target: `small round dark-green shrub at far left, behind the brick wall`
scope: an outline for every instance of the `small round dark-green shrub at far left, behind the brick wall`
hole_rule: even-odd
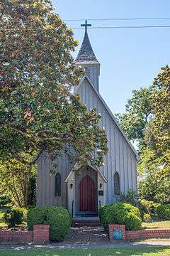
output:
[[[8,209],[3,218],[9,228],[15,227],[23,222],[23,210],[21,208]]]

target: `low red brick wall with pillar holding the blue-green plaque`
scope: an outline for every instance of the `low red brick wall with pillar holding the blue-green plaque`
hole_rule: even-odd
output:
[[[113,231],[122,230],[123,240],[170,238],[170,229],[125,230],[125,225],[110,224],[109,240],[113,242]]]

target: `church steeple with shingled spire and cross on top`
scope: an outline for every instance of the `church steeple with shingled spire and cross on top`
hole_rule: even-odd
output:
[[[89,76],[91,81],[94,83],[96,89],[98,90],[98,76],[100,75],[100,63],[98,62],[94,50],[91,47],[89,41],[89,36],[87,33],[87,26],[91,24],[81,24],[85,27],[84,40],[75,60],[76,65],[81,65],[82,68],[85,68],[86,75]]]

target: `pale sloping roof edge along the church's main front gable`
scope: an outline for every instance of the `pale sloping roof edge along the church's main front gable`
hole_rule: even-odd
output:
[[[93,82],[91,81],[91,79],[89,78],[88,75],[84,75],[83,78],[81,78],[81,81],[79,82],[79,86],[77,87],[77,89],[74,91],[74,94],[79,93],[79,90],[81,89],[82,85],[83,85],[83,81],[84,79],[88,80],[89,84],[91,85],[91,87],[93,88],[93,90],[96,92],[96,95],[98,96],[98,98],[101,100],[101,102],[103,103],[104,107],[106,108],[108,114],[110,114],[111,118],[113,119],[113,122],[115,123],[116,127],[118,127],[119,131],[121,132],[121,134],[123,134],[123,137],[125,138],[126,142],[128,142],[130,148],[132,149],[132,151],[134,152],[137,161],[140,160],[140,157],[137,154],[137,151],[135,150],[135,148],[132,146],[130,140],[128,139],[128,137],[125,135],[125,132],[123,132],[123,129],[120,127],[120,124],[118,123],[118,121],[116,120],[116,118],[114,117],[113,113],[111,112],[111,110],[109,109],[108,105],[106,104],[106,102],[103,100],[103,97],[101,97],[100,93],[98,92],[98,90],[96,90],[96,87],[94,86]]]

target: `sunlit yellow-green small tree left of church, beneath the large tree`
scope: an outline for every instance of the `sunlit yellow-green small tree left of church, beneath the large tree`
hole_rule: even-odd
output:
[[[35,203],[35,187],[30,188],[35,181],[36,168],[22,164],[16,159],[0,161],[0,192],[6,193],[20,207]]]

